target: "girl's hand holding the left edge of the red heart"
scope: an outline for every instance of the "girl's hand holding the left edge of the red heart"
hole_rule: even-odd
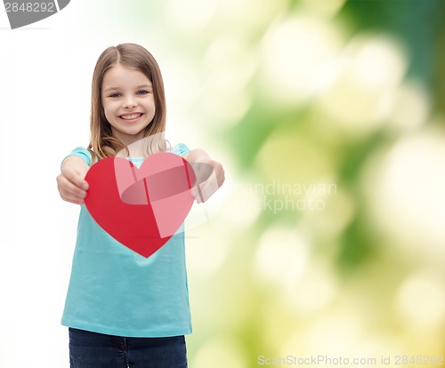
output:
[[[57,177],[57,188],[61,198],[72,204],[84,204],[88,183],[86,172],[90,167],[82,158],[67,157],[61,165],[61,174]]]

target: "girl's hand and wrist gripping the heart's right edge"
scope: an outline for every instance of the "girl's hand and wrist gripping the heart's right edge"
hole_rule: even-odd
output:
[[[195,196],[198,204],[214,194],[223,185],[224,169],[223,165],[212,160],[202,149],[193,149],[183,156],[193,167],[196,176],[196,186],[191,189],[191,194]]]

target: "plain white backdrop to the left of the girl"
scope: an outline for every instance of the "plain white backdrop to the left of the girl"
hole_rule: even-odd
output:
[[[61,200],[55,178],[61,159],[88,142],[101,51],[123,42],[149,48],[150,36],[129,36],[117,21],[131,3],[72,0],[14,30],[0,4],[0,367],[69,366],[60,319],[79,207]],[[150,43],[155,57],[162,54],[157,39]]]

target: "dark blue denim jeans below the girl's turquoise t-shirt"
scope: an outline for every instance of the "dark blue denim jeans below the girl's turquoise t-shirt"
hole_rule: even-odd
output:
[[[69,328],[69,366],[186,368],[185,338],[127,338]]]

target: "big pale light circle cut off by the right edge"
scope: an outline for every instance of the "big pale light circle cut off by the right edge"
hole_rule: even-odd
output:
[[[405,252],[445,257],[445,134],[431,130],[399,140],[364,178],[377,223]]]

